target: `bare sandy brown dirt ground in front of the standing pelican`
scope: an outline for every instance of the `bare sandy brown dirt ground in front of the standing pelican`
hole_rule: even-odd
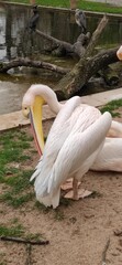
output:
[[[44,126],[47,134],[51,123]],[[16,218],[26,231],[49,241],[32,246],[29,259],[23,244],[0,242],[0,265],[122,265],[122,173],[89,171],[81,187],[93,195],[57,210],[35,209],[35,198],[20,209],[0,203],[2,223]]]

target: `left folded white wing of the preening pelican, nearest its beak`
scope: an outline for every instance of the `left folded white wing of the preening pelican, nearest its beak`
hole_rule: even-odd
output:
[[[57,114],[45,144],[43,159],[41,159],[41,162],[38,162],[36,171],[32,176],[31,180],[36,178],[38,174],[41,176],[41,172],[43,176],[47,176],[51,171],[58,151],[60,150],[65,139],[74,126],[73,120],[70,120],[70,114],[74,113],[76,107],[79,105],[80,98],[78,96],[73,97]]]

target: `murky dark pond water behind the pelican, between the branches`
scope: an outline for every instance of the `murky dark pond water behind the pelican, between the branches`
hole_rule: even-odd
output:
[[[80,33],[75,22],[74,11],[48,9],[40,7],[37,29],[60,40],[74,43]],[[27,30],[32,9],[27,6],[15,6],[0,2],[0,61],[8,62],[16,56],[42,59],[51,62],[47,55],[41,55],[44,49],[49,50],[47,41]],[[100,15],[87,13],[88,31],[91,33],[97,26]],[[122,40],[122,18],[111,17],[100,44],[117,45]],[[73,60],[53,59],[53,63],[74,65]],[[18,67],[7,75],[0,75],[0,114],[21,109],[23,94],[31,84],[44,83],[54,87],[60,76],[45,71],[25,70]]]

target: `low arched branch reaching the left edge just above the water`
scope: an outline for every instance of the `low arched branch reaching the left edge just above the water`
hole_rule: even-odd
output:
[[[62,75],[69,72],[68,68],[64,68],[55,64],[46,63],[43,61],[32,61],[30,59],[19,57],[16,60],[10,61],[9,63],[0,63],[0,73],[7,73],[10,68],[18,67],[18,66],[45,68]]]

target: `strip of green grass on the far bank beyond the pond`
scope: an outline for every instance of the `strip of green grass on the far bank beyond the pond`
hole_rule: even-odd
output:
[[[9,2],[18,2],[18,3],[27,3],[29,0],[9,0]],[[54,7],[54,8],[67,8],[69,9],[69,1],[65,0],[36,0],[36,4],[46,6],[46,7]],[[107,13],[122,13],[121,7],[113,7],[109,3],[101,3],[101,2],[92,2],[92,1],[85,1],[79,0],[77,8],[86,10],[86,11],[97,11],[97,12],[107,12]]]

